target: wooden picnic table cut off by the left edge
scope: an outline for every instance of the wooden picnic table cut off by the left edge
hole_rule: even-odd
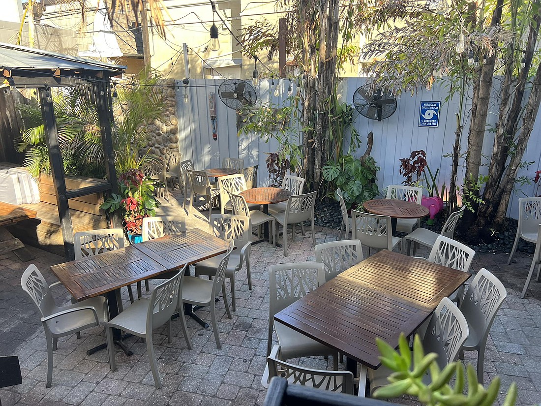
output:
[[[15,238],[5,229],[5,226],[15,224],[21,220],[33,219],[36,215],[35,210],[0,201],[0,255],[12,251],[23,262],[34,259],[34,256],[24,247],[21,240]]]

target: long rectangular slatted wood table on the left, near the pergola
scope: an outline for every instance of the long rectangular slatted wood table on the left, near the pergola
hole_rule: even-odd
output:
[[[194,264],[227,251],[228,243],[197,228],[180,234],[166,235],[154,240],[129,245],[94,257],[87,257],[64,264],[51,266],[68,291],[77,300],[84,300],[100,294],[107,294],[109,316],[118,315],[115,290],[143,279],[174,276],[186,264]],[[192,310],[185,306],[184,313],[193,317],[203,326],[207,325]],[[115,344],[126,355],[131,351],[124,346],[120,330],[114,330]],[[105,348],[105,344],[88,350],[90,355]]]

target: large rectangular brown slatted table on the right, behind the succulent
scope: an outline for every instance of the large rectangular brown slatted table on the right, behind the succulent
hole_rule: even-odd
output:
[[[397,348],[470,276],[422,259],[382,250],[340,273],[274,316],[275,320],[347,356],[357,373],[381,365],[377,337]],[[364,379],[364,381],[363,381]]]

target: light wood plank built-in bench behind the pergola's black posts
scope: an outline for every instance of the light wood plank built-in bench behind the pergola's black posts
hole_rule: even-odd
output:
[[[68,191],[106,182],[103,179],[85,178],[84,176],[66,176],[65,179]],[[43,248],[63,257],[65,255],[64,238],[56,206],[55,187],[50,175],[42,174],[39,177],[39,194],[41,202],[19,206],[36,211],[36,218],[19,221],[10,227],[10,231],[25,244]],[[107,228],[105,212],[100,209],[103,200],[103,193],[69,199],[74,233]]]

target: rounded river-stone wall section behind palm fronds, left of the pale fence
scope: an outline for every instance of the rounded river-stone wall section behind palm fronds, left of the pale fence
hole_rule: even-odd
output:
[[[166,94],[168,117],[149,123],[147,126],[147,131],[150,133],[148,146],[151,153],[167,160],[171,153],[179,152],[179,119],[176,112],[175,80],[164,79],[163,87],[156,88],[156,90]]]

